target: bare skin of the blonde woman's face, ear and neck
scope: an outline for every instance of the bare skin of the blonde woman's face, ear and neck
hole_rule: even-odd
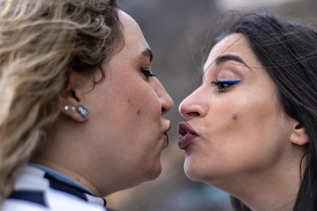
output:
[[[138,24],[120,12],[125,44],[102,66],[105,80],[73,72],[63,90],[63,106],[83,105],[87,118],[66,111],[48,146],[33,162],[80,182],[97,196],[157,178],[171,122],[163,117],[173,101],[155,77],[147,78],[151,52]],[[100,77],[96,71],[95,77]]]

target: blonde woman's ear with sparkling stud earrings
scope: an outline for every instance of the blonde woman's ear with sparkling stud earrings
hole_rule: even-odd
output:
[[[67,85],[61,93],[62,113],[78,122],[84,122],[89,119],[89,112],[84,108],[84,92],[87,82],[85,75],[72,71],[69,74]]]

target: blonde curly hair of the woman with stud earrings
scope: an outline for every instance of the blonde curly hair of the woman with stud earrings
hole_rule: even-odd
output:
[[[123,40],[118,9],[116,0],[0,0],[0,204],[60,115],[70,71],[102,71]]]

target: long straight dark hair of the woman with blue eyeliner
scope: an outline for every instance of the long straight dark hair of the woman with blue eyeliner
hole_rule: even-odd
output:
[[[278,89],[285,113],[309,138],[294,211],[317,210],[317,32],[268,14],[248,14],[223,35],[242,33]],[[237,210],[250,210],[236,198]]]

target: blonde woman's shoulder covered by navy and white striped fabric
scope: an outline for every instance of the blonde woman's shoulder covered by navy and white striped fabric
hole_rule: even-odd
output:
[[[89,203],[82,198],[50,187],[44,178],[45,172],[33,167],[26,167],[15,183],[13,194],[7,198],[0,211],[105,211],[100,204]]]

